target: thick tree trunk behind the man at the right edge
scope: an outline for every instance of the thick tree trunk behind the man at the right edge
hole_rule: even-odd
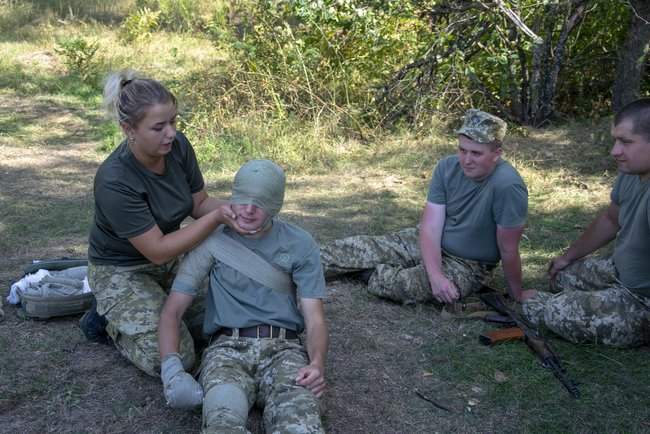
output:
[[[640,96],[645,58],[650,44],[650,2],[629,0],[632,7],[625,42],[619,48],[612,107],[618,111]]]

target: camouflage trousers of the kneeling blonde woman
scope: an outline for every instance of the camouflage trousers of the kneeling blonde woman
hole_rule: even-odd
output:
[[[178,261],[165,265],[127,267],[88,264],[88,283],[97,300],[97,313],[108,321],[106,331],[124,357],[147,374],[160,375],[158,321],[176,275]],[[183,366],[195,364],[194,340],[188,329],[199,330],[205,297],[197,297],[181,324]]]

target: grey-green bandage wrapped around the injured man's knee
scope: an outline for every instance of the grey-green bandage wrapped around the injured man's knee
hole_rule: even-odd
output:
[[[204,424],[222,424],[224,420],[236,426],[245,426],[248,420],[246,392],[235,384],[218,384],[203,398]]]

